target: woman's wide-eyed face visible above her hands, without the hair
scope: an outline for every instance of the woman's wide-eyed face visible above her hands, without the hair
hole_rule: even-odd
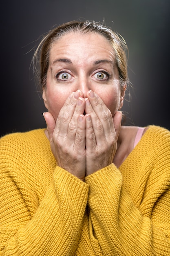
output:
[[[78,89],[84,98],[89,90],[96,92],[112,115],[123,105],[115,53],[100,34],[70,32],[51,47],[43,99],[55,120],[69,94]]]

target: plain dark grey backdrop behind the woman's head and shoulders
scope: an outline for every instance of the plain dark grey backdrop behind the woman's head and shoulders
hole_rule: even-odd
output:
[[[133,85],[123,107],[128,124],[170,129],[169,0],[6,0],[0,12],[0,136],[45,127],[30,68],[32,49],[55,24],[78,18],[105,20],[126,40]]]

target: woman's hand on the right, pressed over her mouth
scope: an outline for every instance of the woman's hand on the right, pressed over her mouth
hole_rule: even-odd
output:
[[[86,99],[86,176],[113,163],[121,128],[121,112],[114,117],[92,91]]]

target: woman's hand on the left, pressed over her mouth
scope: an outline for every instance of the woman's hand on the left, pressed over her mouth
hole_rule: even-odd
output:
[[[66,100],[57,121],[44,113],[52,153],[58,165],[80,180],[86,174],[86,120],[83,115],[85,100],[77,90]]]

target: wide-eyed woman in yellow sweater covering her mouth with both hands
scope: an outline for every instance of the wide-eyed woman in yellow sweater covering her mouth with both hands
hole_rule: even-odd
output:
[[[2,255],[170,255],[170,132],[121,127],[125,48],[88,21],[40,43],[47,129],[1,139]]]

